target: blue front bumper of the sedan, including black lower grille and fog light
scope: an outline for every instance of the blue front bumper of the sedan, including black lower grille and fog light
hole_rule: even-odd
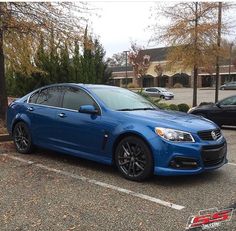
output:
[[[213,142],[171,143],[161,141],[154,159],[155,175],[193,175],[211,171],[226,164],[227,143],[224,137]],[[160,146],[159,146],[160,147]]]

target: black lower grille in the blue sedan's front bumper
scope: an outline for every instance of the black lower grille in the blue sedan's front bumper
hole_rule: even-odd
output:
[[[227,152],[226,143],[220,145],[208,145],[202,148],[202,160],[204,166],[210,167],[223,162]]]

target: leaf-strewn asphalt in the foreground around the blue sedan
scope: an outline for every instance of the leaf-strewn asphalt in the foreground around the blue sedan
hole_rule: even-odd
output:
[[[0,146],[1,230],[185,230],[199,210],[236,208],[236,129],[229,164],[197,176],[123,179],[114,167],[59,153]],[[233,231],[231,221],[218,229]]]

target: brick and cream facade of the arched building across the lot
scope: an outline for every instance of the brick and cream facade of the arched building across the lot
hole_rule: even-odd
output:
[[[143,87],[160,86],[173,87],[176,83],[182,84],[184,87],[192,87],[193,73],[192,70],[170,70],[167,69],[166,55],[170,47],[154,48],[142,50],[143,55],[150,56],[150,66],[146,75],[143,77]],[[160,66],[162,73],[157,74],[156,66]],[[112,78],[110,84],[116,86],[126,86],[126,84],[134,83],[134,72],[132,66],[110,67],[112,70]],[[127,77],[126,77],[127,75]],[[215,84],[215,71],[208,73],[199,68],[198,87],[212,87]],[[236,81],[236,67],[229,66],[229,60],[222,61],[220,65],[220,84],[225,82]]]

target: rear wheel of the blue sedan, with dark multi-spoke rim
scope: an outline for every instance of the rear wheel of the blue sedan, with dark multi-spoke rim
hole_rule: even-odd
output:
[[[24,122],[18,122],[13,129],[13,140],[16,150],[22,154],[30,154],[33,143],[28,126]]]

